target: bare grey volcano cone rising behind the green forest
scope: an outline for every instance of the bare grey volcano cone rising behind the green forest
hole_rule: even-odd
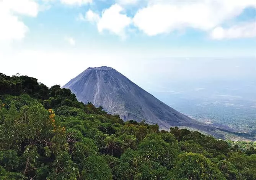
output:
[[[111,67],[89,67],[64,88],[69,88],[78,101],[103,106],[105,111],[119,114],[124,121],[145,119],[149,124],[158,124],[161,129],[187,126],[214,135],[213,127],[181,114]]]

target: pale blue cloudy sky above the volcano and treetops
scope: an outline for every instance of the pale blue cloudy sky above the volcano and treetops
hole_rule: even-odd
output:
[[[144,85],[254,75],[256,1],[0,0],[0,72],[50,87],[98,66]]]

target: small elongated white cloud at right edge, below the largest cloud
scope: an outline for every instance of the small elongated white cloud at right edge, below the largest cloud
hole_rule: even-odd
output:
[[[256,37],[256,22],[247,22],[224,29],[216,27],[211,32],[212,39],[236,39]]]

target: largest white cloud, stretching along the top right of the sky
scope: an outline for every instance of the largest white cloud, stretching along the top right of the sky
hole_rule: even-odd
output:
[[[134,25],[147,35],[172,32],[192,27],[209,31],[232,19],[255,0],[149,0],[133,18]],[[218,30],[219,31],[219,30]]]

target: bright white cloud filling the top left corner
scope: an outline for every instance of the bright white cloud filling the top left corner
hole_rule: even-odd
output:
[[[23,39],[28,27],[20,15],[35,17],[39,11],[35,0],[3,0],[0,2],[0,41]]]

